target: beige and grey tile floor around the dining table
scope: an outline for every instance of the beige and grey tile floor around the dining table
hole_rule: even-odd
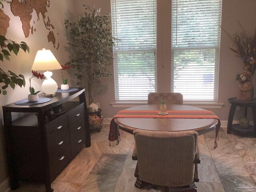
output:
[[[91,135],[92,146],[84,148],[54,180],[54,192],[163,192],[150,186],[139,190],[134,186],[136,162],[132,161],[134,138],[120,131],[121,142],[110,147],[109,125]],[[245,162],[256,161],[256,138],[226,134],[220,129],[218,148],[213,149],[215,132],[199,136],[201,163],[198,166],[198,192],[256,192],[256,183],[246,170]],[[241,182],[252,188],[241,188]],[[254,187],[253,187],[254,186]],[[43,184],[21,183],[15,192],[42,192]]]

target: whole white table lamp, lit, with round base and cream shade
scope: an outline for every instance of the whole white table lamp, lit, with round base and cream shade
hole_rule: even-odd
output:
[[[51,76],[52,72],[49,70],[57,70],[62,69],[59,62],[56,60],[54,55],[50,50],[38,50],[36,54],[36,58],[34,60],[32,70],[33,71],[46,71],[44,72],[44,76],[46,79],[42,83],[42,91],[45,93],[45,96],[55,96],[56,91],[58,89],[58,85],[56,81],[54,81]]]

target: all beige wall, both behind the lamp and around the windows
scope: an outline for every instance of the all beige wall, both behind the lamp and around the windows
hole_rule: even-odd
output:
[[[71,3],[72,2],[72,3]],[[25,38],[21,30],[21,23],[18,17],[12,16],[8,4],[4,7],[4,12],[10,16],[10,27],[6,34],[7,38],[11,38],[17,42],[25,41],[30,46],[30,54],[20,52],[18,56],[12,56],[11,61],[0,63],[0,67],[4,70],[13,70],[17,74],[24,74],[26,80],[31,76],[31,67],[34,61],[37,50],[46,47],[46,49],[52,50],[53,54],[59,60],[60,64],[64,64],[71,57],[72,51],[66,45],[67,40],[70,40],[68,32],[65,30],[64,19],[77,18],[82,16],[84,10],[82,4],[87,4],[90,7],[101,8],[102,14],[111,12],[110,0],[52,0],[50,1],[50,8],[47,15],[50,16],[51,23],[55,27],[56,41],[60,42],[60,48],[54,49],[51,43],[48,43],[47,34],[48,31],[44,28],[44,23],[41,20],[36,22],[36,32]],[[226,29],[230,34],[240,31],[237,21],[240,21],[246,31],[253,32],[256,28],[254,18],[256,18],[256,1],[255,0],[223,0],[222,6],[222,27]],[[158,11],[162,9],[162,15],[158,14],[158,77],[164,77],[158,80],[158,91],[170,91],[170,32],[163,30],[163,37],[161,36],[161,29],[170,28],[170,0],[158,0]],[[41,16],[42,17],[42,16]],[[33,18],[36,18],[33,13]],[[162,26],[161,26],[162,24]],[[58,33],[58,35],[57,35]],[[163,39],[163,42],[162,42]],[[238,83],[234,81],[236,72],[242,71],[242,61],[235,56],[233,52],[228,49],[228,46],[232,41],[228,38],[227,34],[222,31],[221,35],[221,47],[220,47],[220,77],[219,77],[219,94],[218,103],[224,103],[222,109],[209,109],[214,111],[221,120],[228,119],[228,111],[230,104],[227,102],[227,98],[235,97],[238,89]],[[164,68],[162,68],[164,64]],[[109,66],[110,71],[113,72],[113,65]],[[60,70],[53,71],[54,79],[61,84]],[[70,73],[72,74],[72,72]],[[66,74],[68,77],[68,74]],[[70,77],[74,77],[70,75]],[[76,85],[75,78],[69,78],[71,86]],[[40,80],[34,80],[33,86],[40,90],[42,82]],[[254,84],[256,85],[256,77],[254,76]],[[86,84],[81,84],[85,86]],[[8,89],[8,95],[0,95],[0,119],[2,120],[2,106],[15,102],[17,100],[27,97],[28,86],[26,88],[16,88],[15,90]],[[255,93],[256,95],[256,93]],[[102,114],[107,117],[113,117],[116,112],[124,108],[113,108],[110,103],[115,102],[114,96],[114,78],[103,79],[97,81],[94,84],[94,102],[100,102],[102,108]],[[249,112],[250,113],[250,112]],[[235,118],[241,117],[242,110],[237,113]],[[1,121],[2,122],[2,121]],[[0,184],[7,177],[6,155],[4,146],[4,133],[3,122],[0,124]]]

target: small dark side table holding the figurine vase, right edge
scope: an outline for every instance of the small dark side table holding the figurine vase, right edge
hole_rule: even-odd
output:
[[[228,114],[228,127],[227,134],[231,134],[232,131],[242,135],[251,135],[256,137],[256,99],[254,98],[250,102],[241,102],[236,100],[236,97],[228,98],[228,102],[231,104]],[[234,114],[236,112],[236,106],[244,107],[244,116],[247,116],[247,108],[252,108],[253,126],[249,125],[249,128],[242,129],[239,124],[233,124]]]

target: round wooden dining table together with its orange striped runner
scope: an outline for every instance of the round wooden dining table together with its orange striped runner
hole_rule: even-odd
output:
[[[168,132],[196,131],[198,132],[198,135],[201,135],[214,130],[214,127],[216,127],[216,140],[214,144],[214,148],[216,148],[218,131],[220,129],[220,120],[214,113],[202,108],[188,105],[167,104],[166,108],[166,112],[169,112],[171,115],[168,114],[165,116],[158,114],[158,112],[160,112],[159,104],[140,105],[118,112],[110,123],[109,140],[111,141],[111,134],[113,136],[114,131],[118,131],[118,128],[130,134],[133,134],[133,131],[136,129],[142,129]],[[126,115],[122,116],[122,112]],[[213,116],[196,115],[207,112],[209,112],[209,114],[213,114]],[[130,113],[133,115],[130,115]],[[154,115],[148,116],[147,114],[149,113]],[[118,144],[118,142],[116,144]]]

